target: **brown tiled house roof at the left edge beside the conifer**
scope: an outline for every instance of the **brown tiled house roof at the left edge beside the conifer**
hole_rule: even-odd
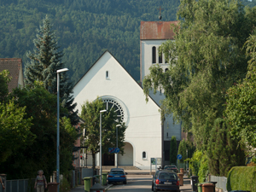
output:
[[[20,58],[0,59],[0,72],[7,69],[12,77],[8,84],[9,92],[18,87],[20,68],[22,68],[22,60]]]

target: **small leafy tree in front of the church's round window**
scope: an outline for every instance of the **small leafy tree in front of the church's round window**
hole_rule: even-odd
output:
[[[105,107],[102,99],[96,99],[94,102],[85,102],[82,106],[80,118],[84,119],[84,124],[81,128],[86,129],[86,139],[84,146],[88,147],[92,154],[92,167],[95,168],[95,154],[100,151],[100,111]],[[116,125],[117,114],[114,109],[110,109],[102,113],[102,154],[108,153],[108,148],[116,146]],[[120,124],[118,127],[118,144],[120,153],[124,154],[125,140],[125,124]]]

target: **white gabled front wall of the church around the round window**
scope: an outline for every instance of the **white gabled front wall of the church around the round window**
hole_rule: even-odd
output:
[[[106,71],[109,74],[108,79],[106,79]],[[128,123],[125,142],[133,146],[133,166],[148,169],[151,157],[161,157],[159,107],[151,99],[148,103],[145,102],[143,89],[108,51],[75,85],[73,93],[79,113],[81,105],[86,100],[92,102],[97,96],[113,96],[123,103],[122,107],[127,113],[125,121]],[[143,151],[147,152],[148,160],[143,160]],[[119,160],[120,164],[125,164],[125,160],[122,158]],[[96,163],[98,164],[98,161]]]

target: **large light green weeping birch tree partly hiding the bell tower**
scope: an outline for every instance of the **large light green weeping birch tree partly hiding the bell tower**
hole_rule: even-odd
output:
[[[160,47],[169,70],[150,68],[143,79],[146,95],[165,90],[162,108],[192,130],[197,148],[207,122],[222,118],[226,91],[247,73],[243,44],[256,24],[255,9],[244,9],[236,0],[183,0],[177,11],[175,40]]]

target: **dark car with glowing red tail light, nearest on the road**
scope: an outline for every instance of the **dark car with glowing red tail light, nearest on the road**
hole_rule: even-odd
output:
[[[159,170],[155,172],[152,178],[152,190],[154,192],[160,190],[180,192],[178,180],[176,172],[172,172],[170,170]]]

